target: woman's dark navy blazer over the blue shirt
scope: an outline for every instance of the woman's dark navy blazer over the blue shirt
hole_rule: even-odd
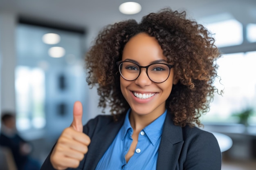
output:
[[[76,170],[95,170],[119,129],[124,115],[114,121],[112,116],[100,115],[83,126],[91,138],[84,159]],[[175,126],[170,113],[166,115],[159,146],[157,170],[220,170],[221,152],[213,134],[196,127]],[[55,170],[46,158],[41,170]],[[72,170],[69,168],[68,170]]]

